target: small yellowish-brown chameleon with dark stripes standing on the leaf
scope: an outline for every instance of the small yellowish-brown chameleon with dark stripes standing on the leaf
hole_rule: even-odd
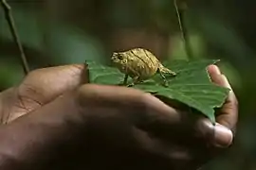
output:
[[[176,76],[176,73],[164,67],[153,53],[143,48],[114,52],[111,60],[119,71],[125,74],[123,80],[124,85],[127,84],[128,76],[133,78],[133,83],[129,86],[146,80],[156,73],[160,74],[165,83],[167,81],[163,74]]]

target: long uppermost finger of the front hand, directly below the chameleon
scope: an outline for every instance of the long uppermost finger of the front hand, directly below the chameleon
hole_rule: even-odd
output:
[[[180,123],[182,119],[178,110],[167,106],[150,93],[132,88],[86,84],[80,88],[79,94],[80,101],[86,101],[82,105],[101,104],[106,107],[126,108],[131,110],[131,114],[135,110],[136,113],[140,111],[140,114],[133,115],[138,124],[148,122],[171,125]]]

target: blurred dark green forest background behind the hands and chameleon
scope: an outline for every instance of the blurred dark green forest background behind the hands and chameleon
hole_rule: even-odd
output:
[[[221,59],[240,104],[235,144],[203,169],[256,169],[256,1],[187,0],[193,58]],[[151,49],[160,59],[188,59],[173,0],[9,0],[31,69],[109,62],[113,51]],[[19,52],[0,8],[0,89],[23,78]],[[254,134],[254,135],[253,135]]]

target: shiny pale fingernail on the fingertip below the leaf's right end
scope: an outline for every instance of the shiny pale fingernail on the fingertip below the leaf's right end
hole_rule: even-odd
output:
[[[232,144],[233,134],[229,128],[216,123],[214,131],[214,145],[218,147],[228,147]]]

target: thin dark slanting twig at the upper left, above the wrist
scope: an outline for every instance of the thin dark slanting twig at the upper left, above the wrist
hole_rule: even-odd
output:
[[[6,0],[1,0],[1,5],[4,8],[4,11],[5,11],[5,17],[6,17],[6,20],[7,20],[8,24],[9,24],[9,30],[10,30],[10,33],[12,35],[12,38],[13,38],[14,42],[16,43],[16,45],[18,46],[18,49],[20,51],[20,57],[21,57],[20,59],[21,59],[21,62],[22,62],[24,73],[25,73],[25,75],[27,75],[27,73],[29,72],[29,67],[28,67],[28,64],[27,64],[27,58],[26,58],[22,43],[19,39],[17,30],[16,30],[16,26],[14,24],[14,20],[13,20],[12,14],[11,14],[11,8],[10,8],[10,6],[7,3]]]

